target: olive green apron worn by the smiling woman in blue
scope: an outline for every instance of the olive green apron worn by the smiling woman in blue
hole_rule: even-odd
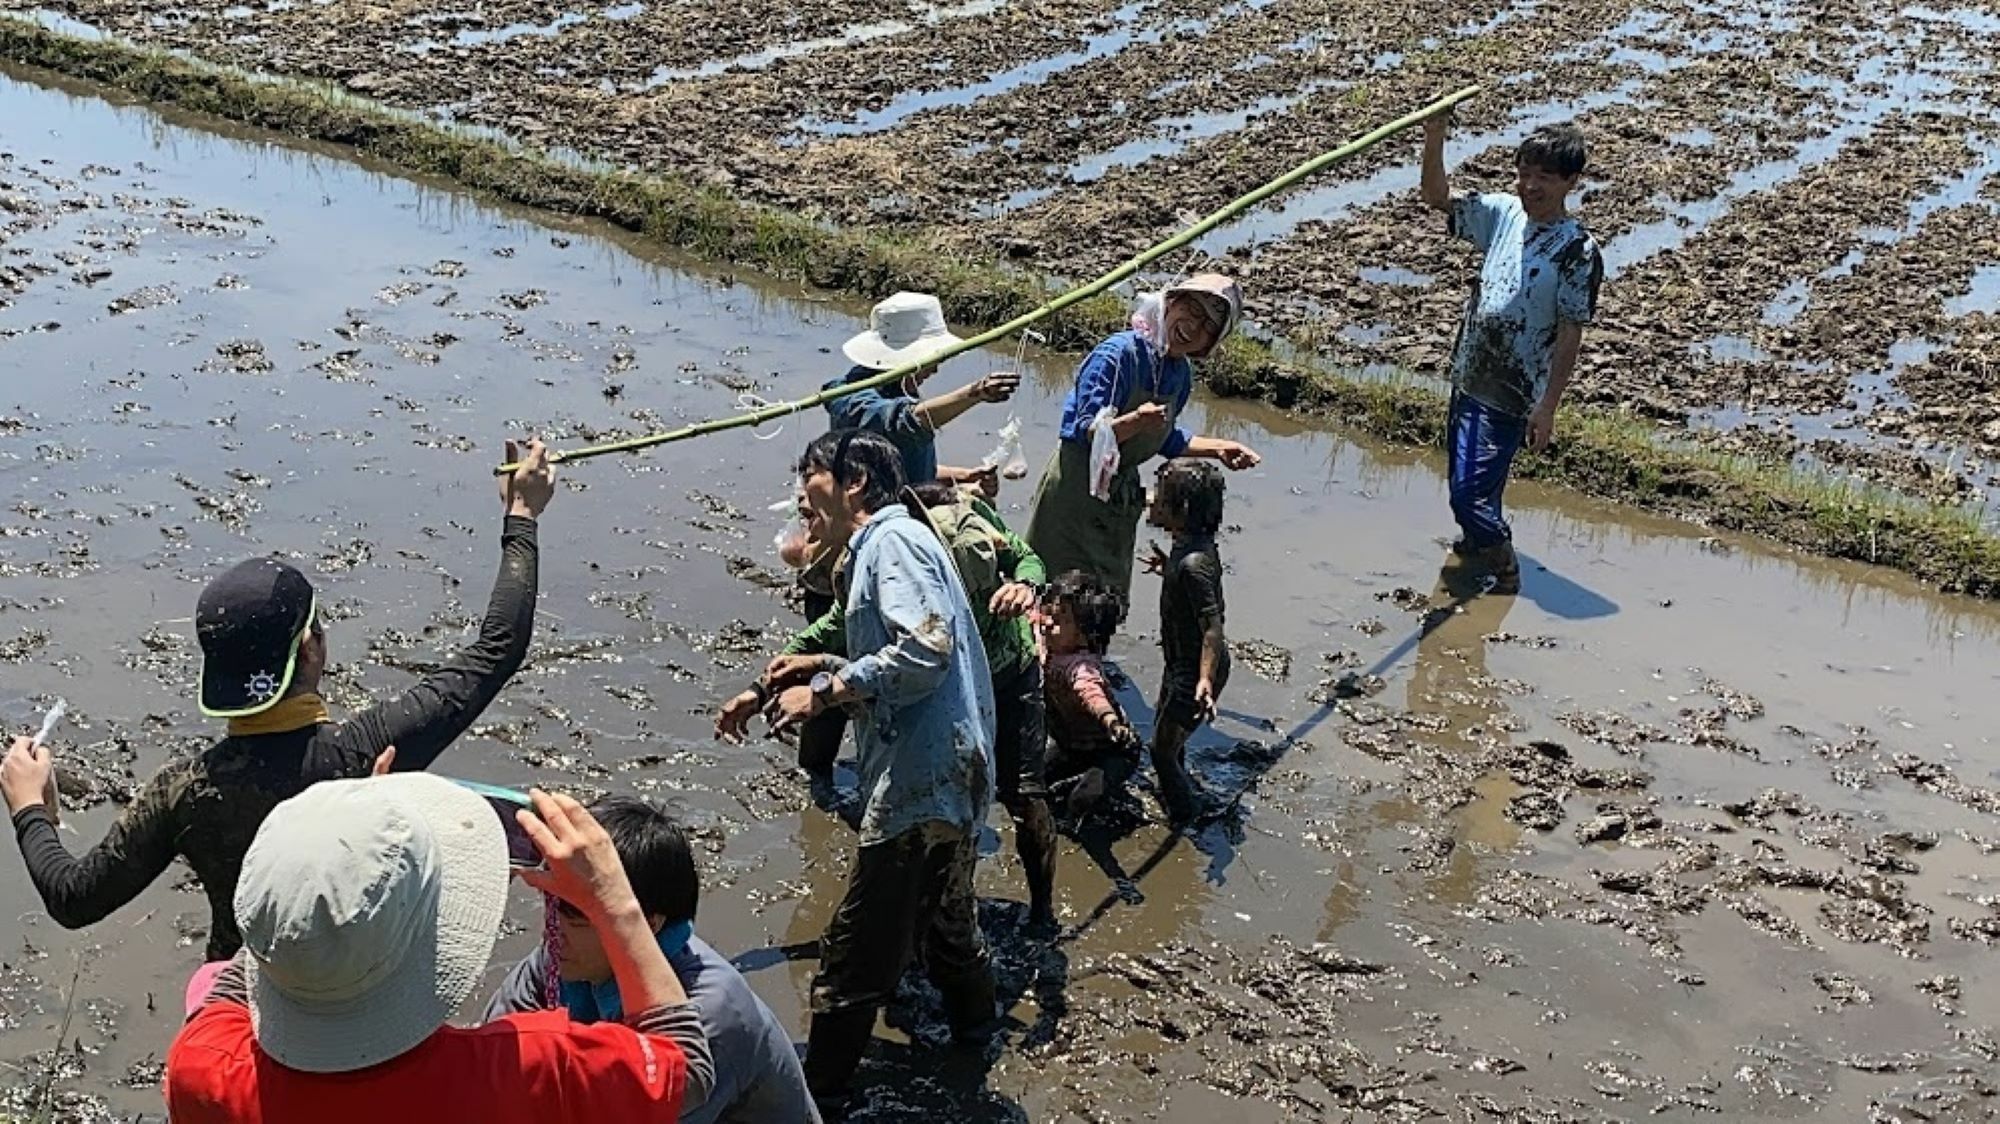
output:
[[[1162,360],[1164,362],[1164,360]],[[1042,558],[1048,576],[1082,570],[1104,578],[1126,604],[1132,600],[1132,558],[1138,554],[1138,520],[1146,514],[1142,464],[1160,454],[1168,434],[1180,424],[1180,408],[1132,380],[1118,402],[1120,414],[1146,404],[1166,406],[1166,428],[1118,442],[1118,476],[1112,498],[1090,494],[1090,440],[1060,440],[1028,514],[1028,546]]]

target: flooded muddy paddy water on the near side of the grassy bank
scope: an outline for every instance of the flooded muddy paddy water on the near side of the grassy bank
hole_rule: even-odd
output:
[[[188,614],[218,566],[292,554],[334,618],[336,702],[396,690],[482,610],[506,434],[572,446],[802,394],[864,318],[38,82],[0,78],[0,714],[68,698],[78,792],[212,732]],[[1034,356],[1036,464],[1072,362]],[[944,458],[1006,414],[962,420]],[[1140,786],[1082,828],[1050,948],[1014,934],[996,814],[980,886],[1014,1026],[982,1074],[932,1048],[912,988],[862,1118],[1994,1116],[1994,608],[1532,486],[1522,596],[1460,596],[1436,456],[1232,402],[1194,422],[1266,454],[1230,480],[1242,658],[1196,752],[1224,814],[1170,836]],[[760,584],[766,504],[820,424],[566,468],[530,668],[444,760],[674,802],[704,842],[704,936],[794,1032],[852,838],[782,750],[712,742],[708,710],[798,624]],[[1138,600],[1116,654],[1146,724],[1144,580]],[[72,846],[108,820],[72,810]],[[184,882],[68,934],[0,862],[12,1106],[82,964],[66,1118],[160,1114],[206,924]],[[512,918],[496,974],[536,904]]]

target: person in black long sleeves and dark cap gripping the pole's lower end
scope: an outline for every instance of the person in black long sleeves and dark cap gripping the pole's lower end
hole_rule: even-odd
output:
[[[478,640],[400,696],[346,722],[320,700],[328,644],[312,582],[278,558],[242,562],[202,590],[200,708],[228,720],[206,752],[166,764],[82,858],[56,834],[54,758],[18,738],[0,762],[14,836],[48,916],[82,928],[136,898],[174,858],[208,894],[208,960],[242,946],[234,894],[264,816],[318,780],[368,776],[394,746],[398,770],[424,770],[514,678],[528,656],[538,584],[536,520],[556,492],[548,450],[508,442],[520,468],[500,480],[500,576]]]

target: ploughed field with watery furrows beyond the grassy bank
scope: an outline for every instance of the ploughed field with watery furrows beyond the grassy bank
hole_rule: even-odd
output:
[[[2000,452],[1990,0],[12,0],[976,260],[1086,276],[1466,82],[1462,186],[1574,118],[1610,284],[1578,396],[1978,500]],[[1210,236],[1252,314],[1436,374],[1470,258],[1386,144]]]

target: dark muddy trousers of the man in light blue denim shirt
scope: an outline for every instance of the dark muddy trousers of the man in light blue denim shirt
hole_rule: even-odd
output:
[[[806,1086],[816,1100],[846,1096],[876,1012],[918,950],[954,1032],[992,1020],[994,976],[972,896],[976,860],[978,836],[936,820],[860,848],[812,980]]]

